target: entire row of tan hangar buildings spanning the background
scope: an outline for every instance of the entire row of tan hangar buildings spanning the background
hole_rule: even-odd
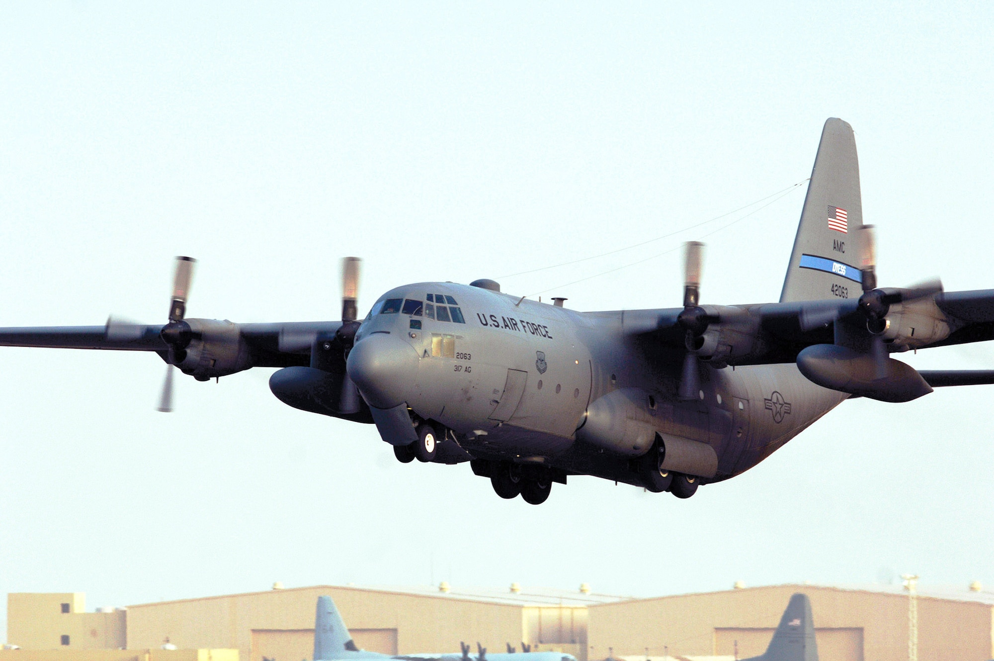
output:
[[[242,661],[310,659],[317,597],[335,599],[356,644],[388,654],[457,652],[480,642],[491,652],[521,641],[580,661],[670,657],[746,658],[765,650],[790,595],[811,600],[820,661],[906,661],[909,594],[901,587],[773,585],[632,599],[583,590],[364,588],[319,585],[160,601],[83,612],[83,595],[8,595],[8,642],[27,650],[126,647],[159,652],[168,640],[201,657],[237,651]],[[994,659],[994,593],[919,588],[918,658]],[[69,604],[69,612],[63,609]],[[68,636],[62,645],[63,636]],[[198,651],[199,650],[199,651]],[[95,661],[28,658],[0,661]],[[128,657],[130,658],[130,657]],[[144,657],[142,657],[144,659]],[[208,661],[199,658],[199,661]],[[108,661],[118,661],[107,657]],[[121,657],[119,661],[127,661]],[[160,661],[147,659],[145,661]],[[171,661],[162,659],[161,661]],[[181,661],[176,659],[175,661]],[[186,661],[186,659],[183,659]],[[235,661],[224,659],[224,661]]]

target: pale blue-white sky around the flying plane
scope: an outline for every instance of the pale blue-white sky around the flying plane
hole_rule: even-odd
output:
[[[829,116],[856,130],[881,284],[994,287],[990,4],[746,5],[0,4],[0,326],[164,323],[175,255],[200,260],[189,315],[237,322],[337,319],[345,255],[363,315],[404,283],[484,277],[673,307],[667,251],[702,237],[705,303],[775,301],[803,186],[727,229],[744,213],[503,276],[787,188]],[[983,344],[907,359],[994,368]],[[994,386],[844,403],[689,501],[571,478],[533,507],[285,406],[269,369],[185,377],[158,413],[164,372],[0,348],[0,594],[994,586]]]

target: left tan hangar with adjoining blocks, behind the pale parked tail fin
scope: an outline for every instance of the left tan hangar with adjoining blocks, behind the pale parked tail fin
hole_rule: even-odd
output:
[[[318,585],[159,601],[87,613],[82,593],[8,595],[8,642],[22,650],[238,649],[243,661],[300,661],[313,650],[317,597],[330,595],[356,644],[386,654],[458,652],[460,641],[492,652],[511,644],[585,661],[586,607],[622,597],[587,589],[364,588]],[[63,604],[70,609],[63,611]],[[95,632],[95,633],[94,633]],[[65,636],[68,636],[65,637]],[[3,660],[6,661],[6,660]]]

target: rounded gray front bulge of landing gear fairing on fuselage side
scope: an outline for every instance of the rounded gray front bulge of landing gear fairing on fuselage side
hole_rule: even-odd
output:
[[[598,448],[626,457],[644,455],[656,438],[649,413],[649,393],[621,388],[595,399],[577,437]]]

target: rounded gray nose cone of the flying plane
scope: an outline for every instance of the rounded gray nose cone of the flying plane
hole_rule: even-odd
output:
[[[408,399],[417,375],[417,352],[399,337],[376,332],[356,342],[346,368],[370,406],[393,408]]]

